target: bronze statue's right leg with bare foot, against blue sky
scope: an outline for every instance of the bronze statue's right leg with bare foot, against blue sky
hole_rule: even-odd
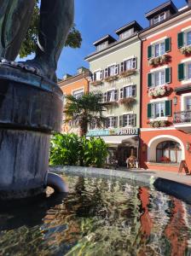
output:
[[[27,61],[43,76],[56,80],[57,61],[73,22],[74,0],[42,0],[36,57]]]

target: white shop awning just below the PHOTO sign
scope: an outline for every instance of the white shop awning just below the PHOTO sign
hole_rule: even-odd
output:
[[[107,144],[132,144],[138,146],[138,136],[137,135],[129,135],[129,136],[103,136],[101,137],[105,143]],[[135,146],[136,146],[135,145]]]

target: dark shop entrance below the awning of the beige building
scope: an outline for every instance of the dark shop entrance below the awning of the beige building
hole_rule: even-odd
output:
[[[137,157],[137,148],[134,147],[120,147],[118,149],[119,166],[127,166],[126,160],[134,155]]]

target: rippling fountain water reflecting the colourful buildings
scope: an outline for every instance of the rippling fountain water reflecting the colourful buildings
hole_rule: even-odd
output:
[[[67,197],[0,210],[0,255],[191,255],[191,206],[122,178],[65,178]]]

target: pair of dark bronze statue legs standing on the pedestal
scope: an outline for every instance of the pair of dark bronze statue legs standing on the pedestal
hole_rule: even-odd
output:
[[[41,0],[36,56],[32,61],[15,63],[34,3],[35,0],[0,0],[1,61],[56,82],[57,61],[72,26],[74,3],[73,0]]]

